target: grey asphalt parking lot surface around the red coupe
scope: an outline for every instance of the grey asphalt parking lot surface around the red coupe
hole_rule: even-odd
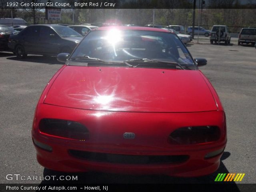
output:
[[[218,92],[227,118],[228,144],[214,174],[199,178],[129,176],[79,173],[80,183],[214,183],[218,173],[245,173],[242,183],[256,183],[256,49],[231,44],[189,44],[192,56],[206,58],[200,70]],[[56,58],[29,55],[18,59],[0,52],[0,183],[47,183],[41,180],[6,180],[7,174],[46,176],[59,173],[36,161],[30,136],[38,98],[62,66]],[[57,182],[57,181],[54,181]],[[239,187],[239,186],[238,186]]]

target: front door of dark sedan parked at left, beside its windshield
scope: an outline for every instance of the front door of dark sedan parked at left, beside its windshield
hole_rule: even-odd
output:
[[[48,26],[40,26],[39,51],[42,54],[55,55],[60,50],[60,36]]]

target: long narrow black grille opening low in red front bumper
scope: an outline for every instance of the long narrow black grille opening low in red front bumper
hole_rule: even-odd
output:
[[[68,152],[71,156],[75,158],[117,164],[170,164],[185,162],[189,158],[188,155],[122,155],[86,152],[79,150],[69,150]]]

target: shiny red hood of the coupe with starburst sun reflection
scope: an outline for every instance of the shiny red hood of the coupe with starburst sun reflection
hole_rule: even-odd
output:
[[[218,109],[200,71],[153,68],[66,66],[44,103],[125,112]]]

